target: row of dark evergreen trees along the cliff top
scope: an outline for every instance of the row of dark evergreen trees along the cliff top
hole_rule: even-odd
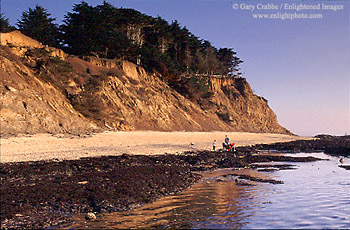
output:
[[[62,25],[54,21],[37,5],[23,12],[17,26],[25,35],[68,53],[129,60],[164,76],[240,74],[242,61],[232,48],[217,49],[177,21],[169,24],[107,2],[95,7],[81,2],[65,15]]]

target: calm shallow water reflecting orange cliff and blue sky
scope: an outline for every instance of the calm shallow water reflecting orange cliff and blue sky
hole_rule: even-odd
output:
[[[131,211],[102,214],[95,221],[79,215],[70,228],[350,228],[350,171],[338,167],[338,157],[291,155],[330,160],[292,163],[295,170],[275,172],[205,172],[199,183],[179,195]],[[284,184],[236,185],[236,177],[223,177],[230,173]]]

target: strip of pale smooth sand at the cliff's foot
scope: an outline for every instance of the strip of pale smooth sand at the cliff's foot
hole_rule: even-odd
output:
[[[1,163],[68,160],[121,154],[181,153],[221,147],[225,135],[237,146],[310,139],[282,134],[245,132],[104,132],[87,137],[38,134],[0,139]]]

